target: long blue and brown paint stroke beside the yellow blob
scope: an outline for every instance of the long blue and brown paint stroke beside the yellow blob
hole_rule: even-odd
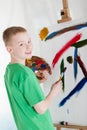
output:
[[[49,40],[49,39],[52,39],[52,38],[55,37],[56,35],[61,35],[61,34],[63,34],[63,33],[66,33],[66,32],[68,32],[68,31],[71,31],[71,30],[79,30],[79,29],[84,28],[84,27],[87,27],[87,22],[85,22],[85,23],[83,23],[83,24],[78,24],[78,25],[70,26],[70,27],[61,29],[61,30],[59,30],[59,31],[52,32],[52,33],[50,33],[50,34],[45,38],[45,41],[46,41],[46,40]]]

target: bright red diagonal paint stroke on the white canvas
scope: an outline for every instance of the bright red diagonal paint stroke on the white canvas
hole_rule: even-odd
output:
[[[82,33],[77,33],[71,40],[69,40],[55,55],[52,61],[52,68],[54,68],[55,64],[58,62],[59,58],[62,54],[73,44],[75,44],[82,36]]]

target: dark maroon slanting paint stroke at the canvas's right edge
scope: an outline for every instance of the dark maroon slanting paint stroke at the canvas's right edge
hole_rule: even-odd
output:
[[[83,63],[83,61],[81,60],[81,57],[77,55],[76,57],[76,61],[78,62],[79,66],[81,67],[81,70],[85,76],[85,78],[87,78],[87,70],[85,68],[85,64]]]

